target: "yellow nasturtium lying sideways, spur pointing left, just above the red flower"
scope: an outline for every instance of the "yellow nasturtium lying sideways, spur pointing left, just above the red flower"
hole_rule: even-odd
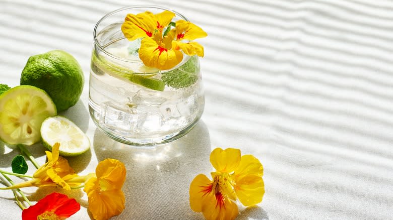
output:
[[[65,190],[70,190],[71,187],[79,186],[80,183],[68,182],[68,180],[75,178],[78,175],[69,165],[67,159],[59,156],[59,147],[60,144],[55,143],[52,147],[52,152],[45,151],[48,162],[35,171],[31,180],[7,187],[7,189],[57,185]]]

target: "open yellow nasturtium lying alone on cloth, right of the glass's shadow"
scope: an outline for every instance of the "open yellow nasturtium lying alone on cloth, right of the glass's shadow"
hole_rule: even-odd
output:
[[[204,174],[196,176],[189,189],[189,201],[193,211],[202,212],[206,219],[235,219],[238,198],[245,205],[262,201],[265,193],[262,178],[264,168],[252,155],[241,156],[240,150],[216,148],[210,154],[210,162],[216,169],[213,180]]]

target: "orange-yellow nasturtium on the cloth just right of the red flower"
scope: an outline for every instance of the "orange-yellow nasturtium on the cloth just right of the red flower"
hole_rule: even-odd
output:
[[[125,174],[125,166],[118,160],[105,159],[98,163],[96,177],[87,180],[83,189],[94,219],[108,219],[124,209],[125,198],[121,187]]]

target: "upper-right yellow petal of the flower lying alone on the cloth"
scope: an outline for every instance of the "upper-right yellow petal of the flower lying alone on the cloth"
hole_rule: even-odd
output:
[[[234,176],[242,176],[247,174],[253,174],[257,176],[263,176],[264,174],[264,167],[262,164],[257,158],[250,154],[241,156],[240,164],[233,173]]]

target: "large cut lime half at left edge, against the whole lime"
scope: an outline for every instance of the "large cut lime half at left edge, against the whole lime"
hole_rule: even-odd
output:
[[[42,89],[20,85],[0,95],[0,139],[8,144],[32,145],[40,140],[41,123],[57,114]]]

